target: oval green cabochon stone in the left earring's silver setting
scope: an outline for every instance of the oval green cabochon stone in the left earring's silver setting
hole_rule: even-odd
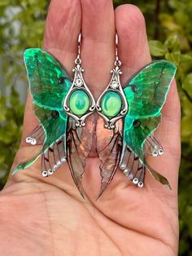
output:
[[[89,96],[83,90],[75,90],[69,98],[69,108],[76,116],[83,116],[89,109]]]

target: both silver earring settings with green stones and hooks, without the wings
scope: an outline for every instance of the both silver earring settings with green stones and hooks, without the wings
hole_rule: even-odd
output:
[[[124,117],[128,111],[128,104],[124,96],[124,91],[120,84],[120,60],[117,52],[118,37],[116,34],[116,61],[115,68],[111,70],[112,76],[109,85],[99,97],[97,104],[94,97],[85,84],[81,67],[81,34],[78,38],[78,55],[75,60],[76,67],[73,69],[74,80],[64,99],[63,108],[76,121],[76,126],[85,126],[85,118],[94,112],[95,107],[103,117],[108,129],[115,128],[115,122]]]

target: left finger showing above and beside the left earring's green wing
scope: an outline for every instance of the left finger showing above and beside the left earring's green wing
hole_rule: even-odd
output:
[[[46,19],[43,48],[54,55],[72,74],[72,67],[77,54],[77,38],[81,31],[81,3],[79,0],[52,0]],[[25,138],[37,126],[33,113],[33,99],[28,95],[24,130],[21,145]]]

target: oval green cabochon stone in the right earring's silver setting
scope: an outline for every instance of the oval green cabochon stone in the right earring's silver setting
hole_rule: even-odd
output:
[[[121,105],[121,99],[118,93],[108,91],[103,95],[101,107],[105,116],[116,117],[120,113]]]

